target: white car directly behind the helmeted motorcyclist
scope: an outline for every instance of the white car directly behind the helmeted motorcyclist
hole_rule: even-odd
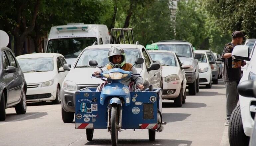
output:
[[[162,87],[162,70],[161,68],[155,70],[160,62],[153,62],[144,46],[134,44],[88,46],[78,56],[72,68],[70,64],[65,64],[63,67],[65,70],[70,70],[64,79],[61,90],[63,122],[70,123],[74,119],[75,91],[85,87],[97,87],[98,84],[103,83],[99,78],[91,78],[92,73],[100,70],[99,68],[89,66],[89,61],[96,60],[98,66],[104,67],[109,63],[107,54],[112,46],[119,46],[124,49],[127,63],[134,64],[137,58],[144,58],[143,64],[135,65],[135,68],[143,78],[144,86]]]

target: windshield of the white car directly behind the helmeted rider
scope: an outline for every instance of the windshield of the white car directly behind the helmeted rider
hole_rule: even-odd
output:
[[[86,49],[80,56],[79,60],[75,68],[79,67],[87,67],[89,66],[90,60],[96,60],[98,62],[98,66],[104,67],[106,66],[108,61],[108,51],[109,48],[100,48],[100,49]],[[133,64],[137,58],[141,58],[139,49],[124,49],[125,52],[125,62]],[[136,64],[135,67],[141,68],[141,64]]]

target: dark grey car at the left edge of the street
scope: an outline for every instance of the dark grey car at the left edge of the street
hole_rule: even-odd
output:
[[[17,114],[25,114],[27,84],[12,51],[0,47],[0,121],[4,121],[5,109],[15,107]]]

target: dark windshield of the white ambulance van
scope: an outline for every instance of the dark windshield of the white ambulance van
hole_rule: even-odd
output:
[[[65,58],[77,58],[81,51],[97,41],[96,37],[51,39],[47,53],[60,53]]]

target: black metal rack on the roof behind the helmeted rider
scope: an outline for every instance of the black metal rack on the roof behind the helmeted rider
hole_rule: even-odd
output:
[[[129,32],[131,35],[131,40],[129,36]],[[125,37],[125,35],[127,35]],[[128,43],[126,43],[125,38],[127,38]],[[111,44],[120,44],[123,39],[124,44],[135,44],[132,28],[113,28],[110,32],[110,43]]]

